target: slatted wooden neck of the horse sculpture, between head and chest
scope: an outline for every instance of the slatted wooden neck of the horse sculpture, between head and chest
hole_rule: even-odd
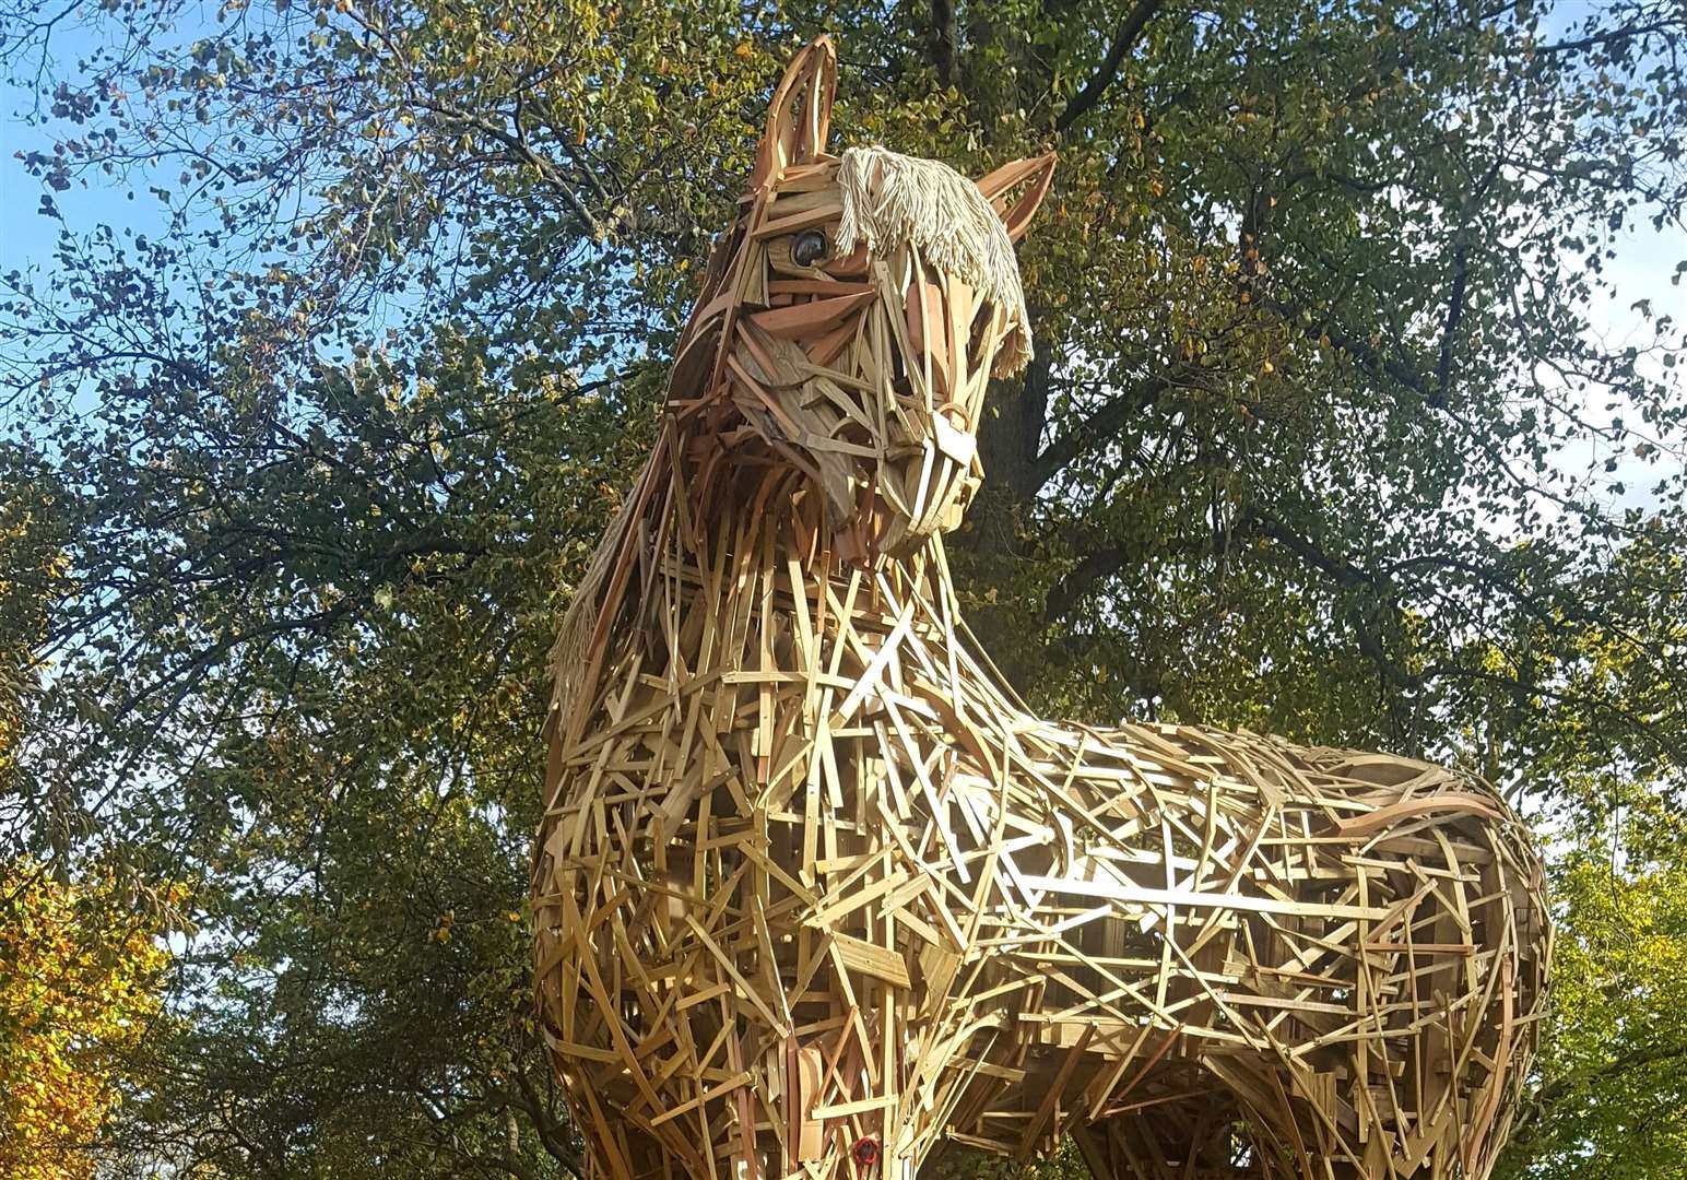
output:
[[[795,471],[710,495],[675,444],[671,432],[658,442],[563,618],[552,650],[557,748],[641,677],[680,692],[722,672],[813,670],[822,653],[837,670],[840,650],[857,668],[874,652],[899,660],[906,652],[891,648],[909,643],[999,711],[1022,709],[970,641],[941,537],[904,559],[845,564]]]

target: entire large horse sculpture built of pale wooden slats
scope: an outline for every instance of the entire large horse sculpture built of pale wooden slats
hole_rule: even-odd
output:
[[[1098,1180],[1481,1180],[1549,959],[1525,831],[1437,766],[1000,685],[941,533],[1053,160],[830,155],[835,74],[774,93],[557,641],[535,966],[592,1175],[1070,1134]]]

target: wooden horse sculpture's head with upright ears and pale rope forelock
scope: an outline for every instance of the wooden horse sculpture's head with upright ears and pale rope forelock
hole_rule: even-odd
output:
[[[835,84],[820,37],[774,89],[668,412],[703,495],[795,473],[833,550],[874,560],[953,528],[978,486],[985,387],[1031,358],[1014,243],[1054,157],[970,181],[882,147],[833,155]]]

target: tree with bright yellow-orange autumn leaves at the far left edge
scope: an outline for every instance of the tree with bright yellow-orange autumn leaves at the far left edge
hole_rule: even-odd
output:
[[[47,846],[64,849],[59,800],[20,805],[40,692],[35,647],[69,574],[62,488],[24,447],[0,447],[0,832],[22,836],[35,822]],[[140,1082],[140,1048],[160,1013],[167,954],[155,903],[181,900],[125,890],[94,856],[74,881],[67,868],[0,859],[0,1172],[17,1180],[94,1175],[98,1136]]]

